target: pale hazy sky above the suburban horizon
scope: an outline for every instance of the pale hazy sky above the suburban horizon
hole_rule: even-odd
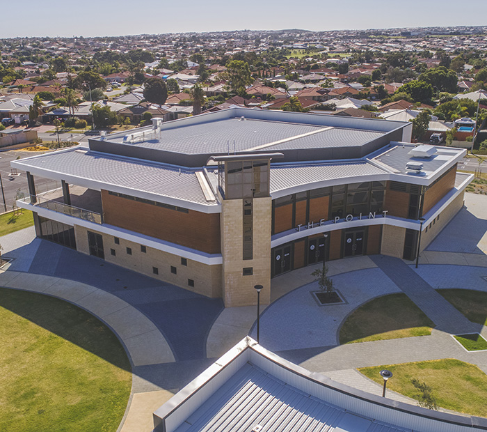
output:
[[[24,0],[21,15],[3,8],[0,38],[487,24],[487,0],[470,0],[466,10],[462,4],[458,0]]]

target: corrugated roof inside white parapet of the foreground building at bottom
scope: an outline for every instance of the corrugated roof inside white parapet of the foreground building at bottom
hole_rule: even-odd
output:
[[[247,363],[176,432],[249,432],[257,425],[262,432],[402,431],[332,406]]]

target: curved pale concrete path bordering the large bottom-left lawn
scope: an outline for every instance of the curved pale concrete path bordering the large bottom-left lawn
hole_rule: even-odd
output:
[[[175,362],[166,339],[144,314],[124,300],[94,286],[70,279],[0,271],[0,286],[61,298],[96,316],[108,325],[125,346],[132,369]],[[134,392],[136,375],[119,432],[152,430],[152,412],[173,396],[172,392]]]

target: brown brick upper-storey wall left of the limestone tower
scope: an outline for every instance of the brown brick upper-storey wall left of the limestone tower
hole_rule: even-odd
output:
[[[220,214],[170,208],[120,196],[102,190],[104,222],[208,254],[220,253]]]

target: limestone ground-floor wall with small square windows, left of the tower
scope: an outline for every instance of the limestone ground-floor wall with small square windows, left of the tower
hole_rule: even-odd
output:
[[[87,230],[75,225],[74,233],[78,251],[89,254]],[[182,265],[180,256],[152,247],[146,247],[146,252],[142,252],[141,244],[122,238],[119,239],[120,244],[116,245],[113,236],[99,234],[103,237],[105,261],[186,288],[194,293],[211,298],[221,297],[221,265],[206,265],[190,259],[186,260],[186,265]],[[127,247],[131,249],[131,254],[127,253]],[[115,251],[115,255],[111,254],[111,249]],[[171,266],[176,268],[176,274],[171,272]],[[158,275],[154,274],[154,267],[157,268]],[[189,286],[188,279],[194,281],[194,286]]]

